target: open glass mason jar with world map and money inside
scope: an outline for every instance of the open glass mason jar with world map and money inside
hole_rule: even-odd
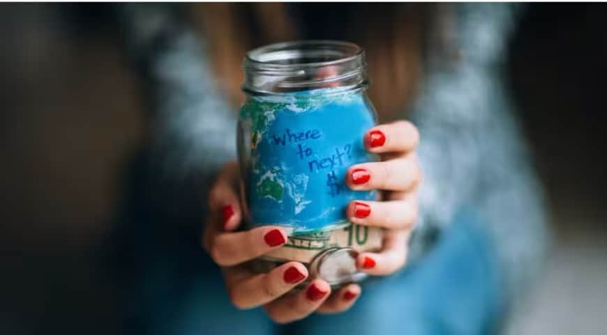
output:
[[[364,147],[376,122],[366,95],[364,51],[349,42],[312,40],[254,49],[244,59],[238,125],[243,214],[248,227],[277,225],[290,232],[265,264],[299,260],[332,284],[360,279],[357,251],[378,249],[381,231],[352,226],[352,164],[377,160]]]

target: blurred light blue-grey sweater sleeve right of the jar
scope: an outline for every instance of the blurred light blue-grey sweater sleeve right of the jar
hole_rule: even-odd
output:
[[[430,51],[426,81],[412,107],[424,171],[412,258],[472,207],[496,246],[507,300],[534,277],[546,247],[546,216],[502,68],[518,8],[464,4],[455,8],[458,59]]]

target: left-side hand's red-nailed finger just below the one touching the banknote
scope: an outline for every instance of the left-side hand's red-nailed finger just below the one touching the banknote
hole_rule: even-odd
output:
[[[239,268],[239,267],[235,267]],[[250,309],[277,299],[308,278],[306,267],[289,262],[268,273],[242,278],[239,270],[226,270],[225,280],[230,299],[239,309]]]

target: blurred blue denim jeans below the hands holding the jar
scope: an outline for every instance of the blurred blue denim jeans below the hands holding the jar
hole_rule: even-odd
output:
[[[149,287],[147,306],[140,306],[146,333],[490,334],[501,309],[500,283],[494,247],[482,227],[471,212],[459,215],[419,263],[362,283],[361,297],[350,310],[313,314],[290,325],[273,325],[259,308],[234,308],[219,269],[205,256],[204,270],[189,283],[157,282],[157,296]],[[167,294],[160,289],[165,285],[183,285],[175,290],[185,294]]]

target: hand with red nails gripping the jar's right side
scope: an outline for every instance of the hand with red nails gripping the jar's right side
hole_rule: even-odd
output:
[[[417,219],[417,190],[422,180],[415,149],[417,128],[407,121],[377,125],[365,134],[365,146],[382,162],[350,166],[346,184],[354,190],[379,189],[378,201],[351,201],[347,217],[354,224],[385,228],[382,250],[359,254],[357,265],[368,274],[387,275],[405,265],[407,242]]]

